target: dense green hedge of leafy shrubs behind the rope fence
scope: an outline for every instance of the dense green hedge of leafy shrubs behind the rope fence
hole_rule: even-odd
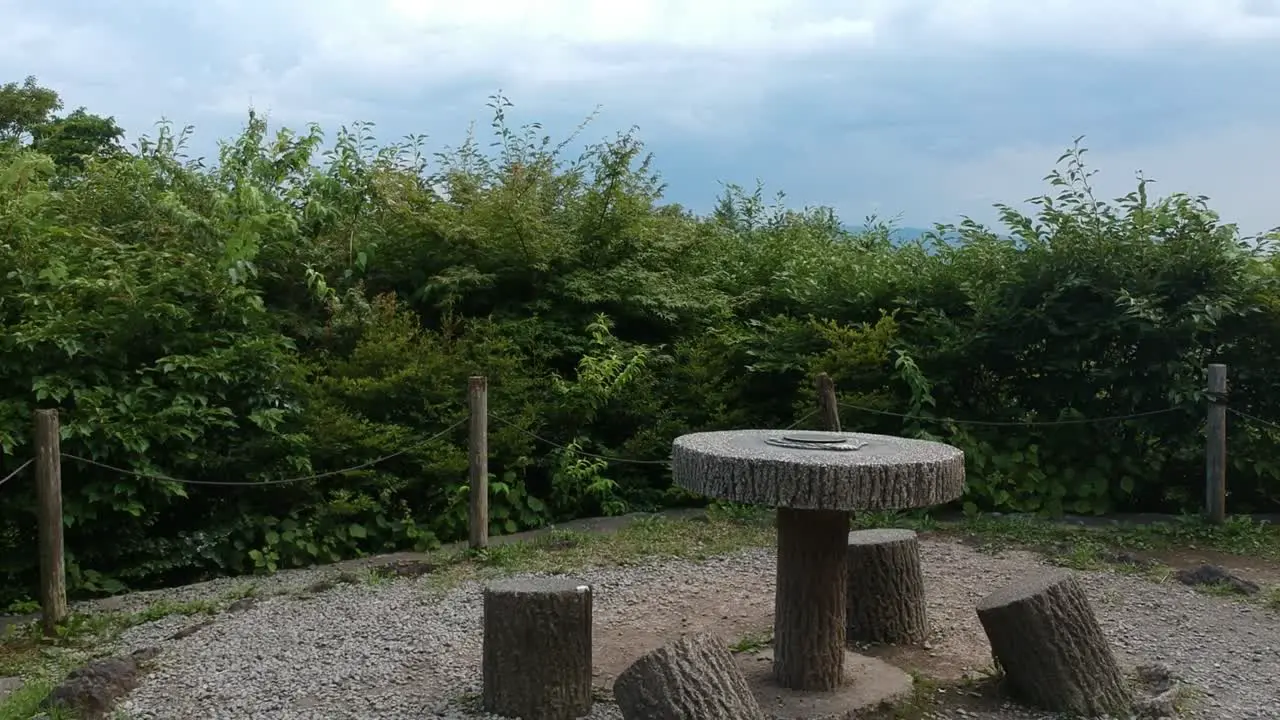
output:
[[[634,132],[566,158],[500,96],[492,146],[250,114],[211,165],[59,110],[0,87],[0,475],[58,407],[77,593],[463,538],[471,375],[493,533],[700,502],[671,439],[791,425],[818,372],[846,428],[963,447],[970,512],[1196,510],[1210,361],[1280,419],[1277,260],[1204,199],[1098,201],[1079,147],[1033,213],[897,246],[762,188],[664,204]],[[1277,441],[1233,423],[1233,509],[1280,503]],[[35,497],[0,493],[8,603]]]

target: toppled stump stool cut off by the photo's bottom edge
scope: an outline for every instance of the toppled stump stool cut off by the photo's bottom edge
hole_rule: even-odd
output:
[[[709,633],[641,656],[614,680],[613,698],[625,720],[764,720],[724,641]]]

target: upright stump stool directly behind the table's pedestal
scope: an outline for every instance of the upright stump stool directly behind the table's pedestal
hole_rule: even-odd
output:
[[[928,638],[924,575],[914,530],[849,533],[846,571],[847,639],[920,644]]]

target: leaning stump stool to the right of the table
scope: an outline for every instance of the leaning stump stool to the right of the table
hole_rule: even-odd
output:
[[[1073,575],[1023,578],[984,597],[977,610],[1009,689],[1023,702],[1089,717],[1132,710],[1111,646]]]

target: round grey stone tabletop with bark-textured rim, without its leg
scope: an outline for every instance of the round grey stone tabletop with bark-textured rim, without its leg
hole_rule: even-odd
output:
[[[671,471],[692,492],[795,510],[906,510],[964,492],[961,450],[864,433],[692,433],[672,443]]]

